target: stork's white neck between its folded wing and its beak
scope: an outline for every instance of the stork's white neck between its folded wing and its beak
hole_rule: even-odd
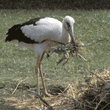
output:
[[[67,44],[68,42],[71,41],[68,31],[65,29],[65,27],[63,25],[62,25],[62,34],[61,34],[60,41],[64,44]]]

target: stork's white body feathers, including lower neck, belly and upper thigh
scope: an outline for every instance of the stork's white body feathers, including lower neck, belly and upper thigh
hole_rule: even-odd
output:
[[[25,36],[27,36],[28,38],[31,38],[32,40],[35,40],[39,43],[45,40],[46,41],[41,44],[28,45],[27,43],[24,44],[23,42],[21,42],[19,46],[33,47],[36,56],[38,54],[42,55],[42,53],[49,49],[51,46],[57,45],[57,42],[64,44],[70,42],[71,38],[69,34],[65,33],[65,29],[63,29],[62,33],[62,23],[57,19],[46,17],[35,22],[35,24],[36,26],[34,26],[33,24],[22,26],[22,32],[25,33]]]

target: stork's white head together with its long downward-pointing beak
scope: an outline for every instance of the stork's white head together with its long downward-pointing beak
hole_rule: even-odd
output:
[[[70,37],[71,37],[71,43],[75,46],[75,38],[73,34],[73,24],[75,23],[75,20],[71,16],[66,16],[63,19],[63,25],[64,28],[68,31]]]

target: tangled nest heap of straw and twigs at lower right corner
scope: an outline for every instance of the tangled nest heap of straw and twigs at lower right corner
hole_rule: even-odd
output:
[[[89,76],[91,79],[82,89],[80,86],[74,109],[78,110],[110,110],[110,71]],[[100,77],[100,79],[98,77]]]

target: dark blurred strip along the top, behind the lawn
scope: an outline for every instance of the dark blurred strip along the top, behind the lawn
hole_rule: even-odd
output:
[[[0,0],[0,9],[110,9],[110,0]]]

